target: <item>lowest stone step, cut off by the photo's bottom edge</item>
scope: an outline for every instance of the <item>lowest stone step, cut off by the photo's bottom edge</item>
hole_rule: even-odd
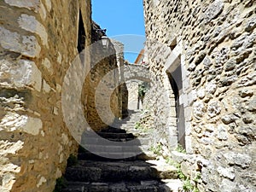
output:
[[[119,183],[68,182],[62,192],[172,192],[166,183],[155,180]]]

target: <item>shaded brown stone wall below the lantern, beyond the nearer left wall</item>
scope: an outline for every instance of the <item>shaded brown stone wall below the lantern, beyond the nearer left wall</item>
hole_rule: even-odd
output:
[[[122,93],[119,89],[119,52],[109,39],[108,48],[102,47],[100,31],[96,23],[92,26],[90,46],[90,73],[84,83],[84,113],[90,127],[100,131],[122,116]],[[117,43],[116,43],[117,44]]]

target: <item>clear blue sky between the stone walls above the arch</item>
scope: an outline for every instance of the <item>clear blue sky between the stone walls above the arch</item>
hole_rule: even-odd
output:
[[[92,0],[92,19],[125,44],[125,59],[134,62],[145,41],[143,0]]]

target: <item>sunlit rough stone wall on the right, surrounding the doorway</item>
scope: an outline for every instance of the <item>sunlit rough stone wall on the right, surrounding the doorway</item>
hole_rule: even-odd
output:
[[[168,124],[183,116],[176,142],[190,156],[182,168],[201,173],[201,191],[256,189],[255,8],[253,0],[144,0],[156,129],[173,142]],[[172,117],[166,106],[178,106]]]

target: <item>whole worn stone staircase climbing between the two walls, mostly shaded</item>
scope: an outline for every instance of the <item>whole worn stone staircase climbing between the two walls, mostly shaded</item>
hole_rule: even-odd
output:
[[[137,113],[133,113],[122,129],[109,127],[97,135],[86,133],[82,145],[87,150],[79,148],[77,165],[67,167],[67,188],[62,192],[179,191],[182,183],[177,169],[164,160],[155,160],[147,151],[147,137],[127,132],[136,131],[136,122]]]

